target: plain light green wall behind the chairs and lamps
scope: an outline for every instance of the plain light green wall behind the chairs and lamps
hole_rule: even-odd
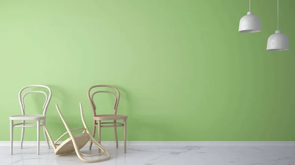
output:
[[[238,33],[248,0],[0,0],[0,141],[30,84],[53,90],[54,139],[65,132],[56,103],[76,128],[81,101],[92,131],[87,90],[110,84],[121,92],[128,141],[295,141],[294,6],[280,1],[291,49],[271,52],[276,0],[252,0],[262,24],[254,34]],[[41,96],[27,96],[27,114],[42,113]],[[113,113],[111,95],[96,104]],[[35,128],[26,131],[36,141]],[[115,140],[112,128],[102,140]]]

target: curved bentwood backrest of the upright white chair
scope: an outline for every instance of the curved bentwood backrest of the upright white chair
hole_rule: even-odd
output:
[[[43,91],[29,91],[27,92],[26,94],[24,94],[22,96],[22,92],[27,89],[27,88],[33,88],[33,87],[42,87],[42,88],[46,88],[48,91],[49,91],[49,96],[43,92]],[[22,109],[22,115],[25,115],[25,103],[24,103],[24,97],[27,95],[27,94],[30,94],[30,93],[41,93],[41,94],[45,94],[45,103],[43,105],[43,115],[46,115],[46,111],[47,111],[47,107],[48,107],[48,104],[51,100],[51,89],[45,85],[29,85],[29,86],[26,86],[26,87],[23,87],[20,92],[19,92],[19,101],[20,101],[20,105],[21,105],[21,109]]]

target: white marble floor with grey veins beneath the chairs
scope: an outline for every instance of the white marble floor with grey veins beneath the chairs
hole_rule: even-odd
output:
[[[75,153],[56,156],[53,149],[36,147],[24,149],[14,147],[14,154],[9,154],[10,147],[0,147],[0,165],[82,165]],[[295,146],[263,147],[224,147],[224,146],[129,146],[124,154],[122,146],[106,146],[111,159],[94,163],[99,165],[295,165]],[[92,151],[88,147],[82,149]]]

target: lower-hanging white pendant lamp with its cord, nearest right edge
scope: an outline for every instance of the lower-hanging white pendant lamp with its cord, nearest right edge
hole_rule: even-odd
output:
[[[279,0],[278,1],[278,10],[277,10],[277,30],[274,34],[269,36],[267,39],[267,47],[266,50],[271,51],[281,51],[281,50],[289,50],[289,38],[287,35],[281,33],[279,30]]]

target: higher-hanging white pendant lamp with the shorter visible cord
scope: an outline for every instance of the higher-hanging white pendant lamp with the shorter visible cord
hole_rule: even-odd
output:
[[[251,0],[249,0],[249,12],[240,19],[238,32],[256,33],[261,31],[260,19],[251,12]]]

